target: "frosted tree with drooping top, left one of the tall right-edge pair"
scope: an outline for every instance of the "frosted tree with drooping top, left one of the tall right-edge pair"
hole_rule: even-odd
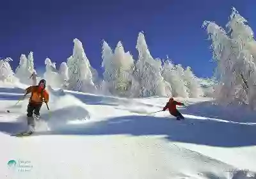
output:
[[[212,40],[212,57],[218,63],[216,77],[220,81],[220,86],[216,86],[215,95],[223,101],[228,101],[234,97],[232,91],[236,86],[232,69],[236,54],[232,51],[232,40],[227,36],[225,29],[215,22],[205,21],[204,26],[207,27],[209,38]]]

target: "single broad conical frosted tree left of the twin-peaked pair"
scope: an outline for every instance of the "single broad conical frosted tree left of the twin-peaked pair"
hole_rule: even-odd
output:
[[[77,38],[73,42],[73,54],[67,60],[68,89],[93,93],[96,88],[90,70],[92,67],[84,53],[83,44]]]

